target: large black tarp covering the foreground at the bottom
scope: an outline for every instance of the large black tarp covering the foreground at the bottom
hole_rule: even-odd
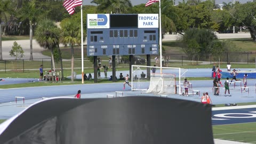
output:
[[[14,119],[0,143],[211,144],[211,105],[159,97],[49,99]]]

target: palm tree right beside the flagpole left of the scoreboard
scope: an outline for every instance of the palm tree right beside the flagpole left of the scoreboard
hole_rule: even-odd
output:
[[[71,81],[74,81],[74,45],[81,44],[81,28],[79,23],[71,20],[61,23],[60,42],[70,45],[71,49]]]

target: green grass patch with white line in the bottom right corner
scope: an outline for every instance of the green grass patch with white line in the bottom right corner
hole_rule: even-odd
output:
[[[214,139],[256,143],[256,122],[228,125],[214,125]]]

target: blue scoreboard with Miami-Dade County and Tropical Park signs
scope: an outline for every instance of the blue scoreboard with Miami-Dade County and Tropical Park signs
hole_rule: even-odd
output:
[[[87,56],[158,54],[158,14],[87,14]]]

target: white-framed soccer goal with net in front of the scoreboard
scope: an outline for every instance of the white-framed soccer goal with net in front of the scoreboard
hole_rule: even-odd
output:
[[[132,91],[179,93],[187,69],[132,65]],[[155,72],[155,73],[153,73]]]

